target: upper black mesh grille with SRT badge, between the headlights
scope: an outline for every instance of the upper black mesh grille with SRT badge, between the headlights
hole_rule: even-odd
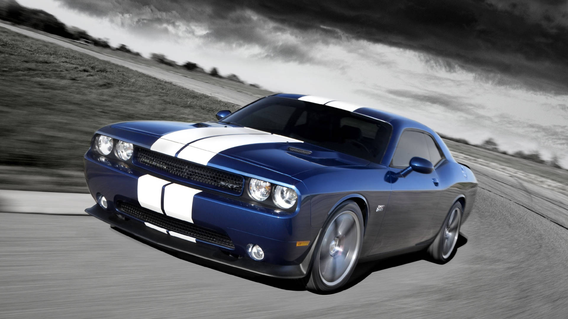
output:
[[[135,159],[145,166],[191,181],[212,185],[234,194],[240,194],[243,191],[244,179],[240,175],[183,161],[183,159],[143,148],[136,148]]]

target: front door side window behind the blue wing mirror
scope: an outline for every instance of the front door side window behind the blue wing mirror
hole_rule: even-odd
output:
[[[427,136],[424,133],[416,131],[403,132],[398,145],[396,145],[391,166],[407,167],[410,159],[415,156],[430,159],[425,137]]]

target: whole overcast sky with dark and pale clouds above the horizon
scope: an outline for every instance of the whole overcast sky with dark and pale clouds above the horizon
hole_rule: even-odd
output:
[[[18,0],[266,89],[364,104],[568,167],[567,0]]]

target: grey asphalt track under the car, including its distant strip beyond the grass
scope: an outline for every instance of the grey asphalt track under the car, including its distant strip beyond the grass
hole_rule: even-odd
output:
[[[239,95],[219,96],[250,100]],[[331,295],[180,259],[89,216],[0,213],[0,318],[566,318],[565,196],[472,168],[482,188],[452,261],[361,264],[350,287]]]

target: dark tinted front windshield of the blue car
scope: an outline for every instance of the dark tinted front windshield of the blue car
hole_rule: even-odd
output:
[[[283,135],[337,152],[380,162],[391,126],[331,106],[268,96],[225,117],[221,123]]]

